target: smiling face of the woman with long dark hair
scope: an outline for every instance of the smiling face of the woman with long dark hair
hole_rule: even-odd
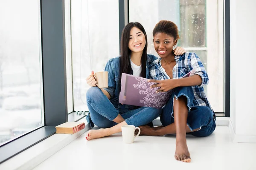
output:
[[[128,47],[132,52],[143,52],[146,40],[143,32],[136,27],[131,28]]]

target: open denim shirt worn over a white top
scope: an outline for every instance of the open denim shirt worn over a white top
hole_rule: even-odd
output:
[[[119,100],[119,90],[121,84],[119,83],[119,72],[120,72],[120,57],[115,57],[110,60],[108,60],[105,71],[108,71],[108,88],[105,88],[106,91],[111,96],[110,101],[112,104],[117,108],[125,107],[126,109],[134,109],[134,106],[131,105],[122,105],[118,102]],[[156,56],[148,54],[147,55],[147,62],[146,62],[146,78],[151,79],[151,76],[149,74],[149,68],[148,66],[151,65],[151,63],[157,59]],[[131,73],[132,74],[132,73]]]

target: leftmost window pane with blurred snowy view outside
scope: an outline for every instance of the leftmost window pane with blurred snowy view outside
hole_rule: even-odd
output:
[[[44,124],[40,1],[0,1],[0,23],[1,145]]]

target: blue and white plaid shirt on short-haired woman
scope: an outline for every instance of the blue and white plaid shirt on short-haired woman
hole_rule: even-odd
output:
[[[192,105],[193,106],[208,106],[209,108],[212,107],[204,93],[204,85],[209,83],[208,75],[204,69],[204,65],[202,64],[201,60],[195,53],[184,53],[180,56],[175,56],[176,65],[174,66],[172,73],[173,79],[180,79],[189,71],[195,72],[195,74],[201,76],[202,84],[199,86],[191,86],[194,91],[194,100]],[[161,58],[158,58],[152,62],[151,67],[149,68],[150,75],[152,79],[157,80],[164,80],[169,79],[169,76],[166,75],[166,72],[163,71],[163,68],[160,64]],[[212,110],[213,111],[213,110]]]

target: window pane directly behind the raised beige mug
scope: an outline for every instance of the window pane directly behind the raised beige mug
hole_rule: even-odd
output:
[[[74,110],[88,111],[87,76],[119,55],[118,0],[71,0],[71,34]]]

